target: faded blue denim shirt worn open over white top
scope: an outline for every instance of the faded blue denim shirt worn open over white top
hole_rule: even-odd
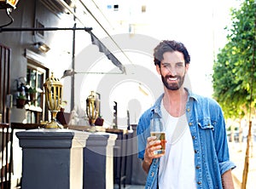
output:
[[[215,100],[192,94],[189,90],[188,93],[186,116],[195,150],[197,188],[223,188],[221,175],[236,168],[236,165],[230,162],[223,112]],[[140,117],[137,125],[138,158],[144,158],[147,138],[150,136],[150,119],[154,113],[161,117],[160,102],[163,96],[164,94]],[[145,188],[158,188],[159,165],[160,158],[154,158]]]

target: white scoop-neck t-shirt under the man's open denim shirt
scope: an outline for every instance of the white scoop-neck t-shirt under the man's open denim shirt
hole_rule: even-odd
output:
[[[166,129],[166,154],[160,158],[160,189],[193,189],[195,182],[195,152],[186,115],[172,117],[161,104]]]

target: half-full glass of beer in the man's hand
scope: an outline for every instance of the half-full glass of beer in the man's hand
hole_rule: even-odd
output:
[[[156,140],[160,140],[161,148],[154,151],[154,155],[165,154],[166,152],[166,132],[160,117],[150,120],[150,135],[156,136]]]

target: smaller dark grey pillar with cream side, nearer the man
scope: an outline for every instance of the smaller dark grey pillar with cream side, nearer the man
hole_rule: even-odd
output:
[[[113,146],[117,135],[90,134],[84,148],[84,189],[113,189]]]

